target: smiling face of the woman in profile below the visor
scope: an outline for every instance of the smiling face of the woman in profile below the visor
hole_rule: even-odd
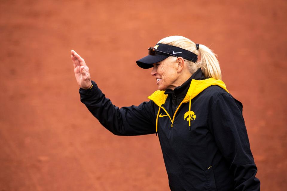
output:
[[[174,90],[175,81],[178,77],[175,67],[176,57],[168,57],[163,61],[153,64],[151,75],[155,77],[159,90]]]

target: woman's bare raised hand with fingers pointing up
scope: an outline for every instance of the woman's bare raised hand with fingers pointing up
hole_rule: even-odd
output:
[[[84,59],[74,50],[71,50],[71,58],[74,65],[75,77],[80,88],[89,89],[92,85],[89,68]]]

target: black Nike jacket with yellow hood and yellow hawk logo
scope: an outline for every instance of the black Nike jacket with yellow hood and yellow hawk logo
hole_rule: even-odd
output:
[[[242,104],[201,70],[175,90],[118,108],[92,81],[81,101],[115,135],[158,133],[171,190],[260,190]]]

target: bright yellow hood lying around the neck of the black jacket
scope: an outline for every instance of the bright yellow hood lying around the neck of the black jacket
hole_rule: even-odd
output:
[[[217,85],[228,92],[226,89],[226,86],[222,80],[216,80],[214,78],[208,78],[205,80],[192,80],[190,83],[190,87],[187,91],[187,94],[185,95],[183,99],[183,103],[187,103],[191,99],[195,98],[199,93],[201,93],[203,90],[205,90],[207,87]],[[164,94],[165,91],[157,90],[152,95],[150,95],[148,98],[155,102],[159,107],[161,107],[162,104],[165,103],[165,100],[167,99],[167,94]]]

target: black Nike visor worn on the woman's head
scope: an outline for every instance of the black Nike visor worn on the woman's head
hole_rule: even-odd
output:
[[[169,56],[181,56],[182,58],[192,62],[197,61],[197,55],[193,52],[172,45],[158,43],[155,47],[149,48],[149,55],[139,59],[137,64],[139,67],[144,69],[152,68],[152,64],[162,61]]]

